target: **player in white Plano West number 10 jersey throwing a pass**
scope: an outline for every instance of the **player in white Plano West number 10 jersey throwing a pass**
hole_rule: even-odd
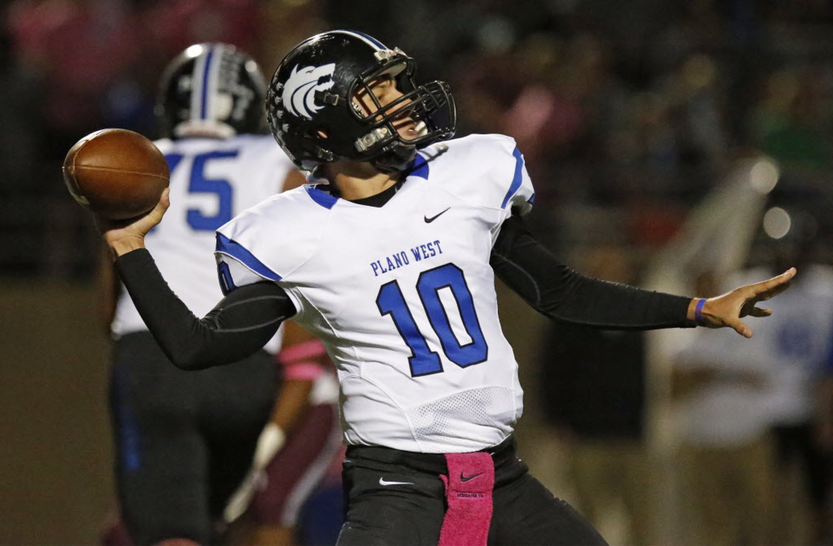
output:
[[[401,50],[351,31],[293,48],[267,118],[321,183],[217,231],[226,297],[196,318],[145,249],[168,206],[102,226],[122,280],[177,366],[244,358],[293,318],[322,339],[348,444],[340,544],[602,544],[516,457],[517,363],[498,323],[497,274],[546,316],[602,328],[731,327],[791,269],[717,298],[582,277],[524,227],[534,201],[512,138],[455,128],[451,92],[418,84]],[[281,237],[291,232],[293,237]],[[578,403],[581,403],[578,401]]]

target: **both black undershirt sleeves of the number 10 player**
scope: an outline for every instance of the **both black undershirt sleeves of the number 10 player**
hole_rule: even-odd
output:
[[[503,223],[491,253],[498,278],[547,317],[597,328],[686,327],[690,298],[588,278],[538,243],[520,218]],[[116,268],[147,328],[178,368],[202,369],[246,358],[297,310],[275,283],[237,288],[197,318],[167,286],[146,249],[116,260]]]

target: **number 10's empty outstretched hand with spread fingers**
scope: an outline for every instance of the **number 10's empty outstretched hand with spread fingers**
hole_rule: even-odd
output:
[[[769,317],[772,309],[756,307],[756,303],[784,292],[795,276],[796,268],[790,268],[761,283],[747,284],[716,298],[708,298],[701,310],[701,325],[706,328],[734,328],[743,337],[751,338],[752,328],[743,323],[741,318]]]

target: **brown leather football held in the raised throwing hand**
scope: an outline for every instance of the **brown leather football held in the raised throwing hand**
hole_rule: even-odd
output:
[[[147,213],[167,188],[165,156],[127,129],[102,129],[75,143],[63,160],[63,180],[84,207],[111,220]]]

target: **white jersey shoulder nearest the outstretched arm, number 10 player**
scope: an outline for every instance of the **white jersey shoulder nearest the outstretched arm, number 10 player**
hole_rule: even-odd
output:
[[[429,180],[459,198],[489,208],[508,208],[533,195],[515,139],[472,134],[425,148]]]

